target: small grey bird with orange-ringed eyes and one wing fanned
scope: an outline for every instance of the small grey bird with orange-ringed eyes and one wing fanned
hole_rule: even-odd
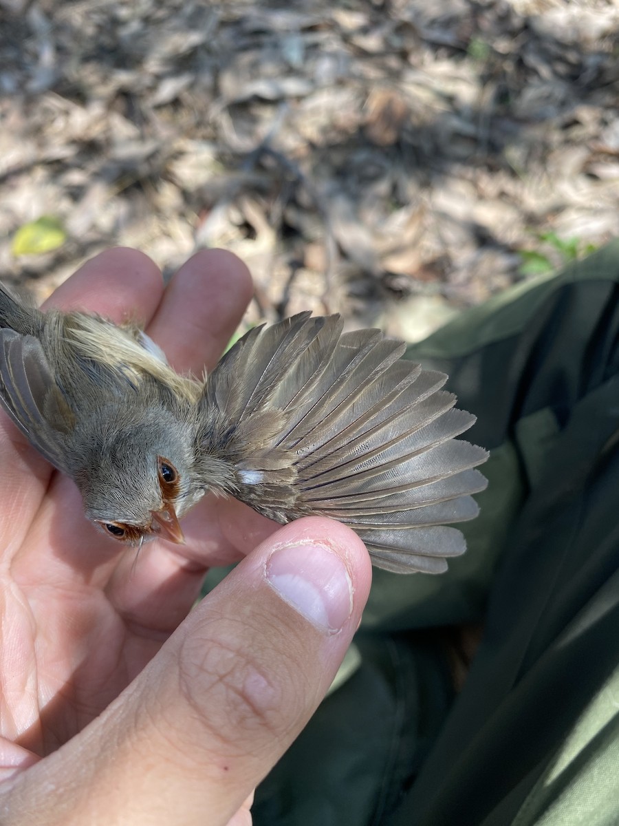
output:
[[[250,330],[197,381],[137,327],[0,287],[0,403],[87,518],[131,544],[182,542],[178,519],[214,492],[282,525],[341,520],[389,571],[444,571],[465,550],[446,525],[477,514],[487,453],[454,438],[475,416],[447,376],[404,349],[305,312]]]

